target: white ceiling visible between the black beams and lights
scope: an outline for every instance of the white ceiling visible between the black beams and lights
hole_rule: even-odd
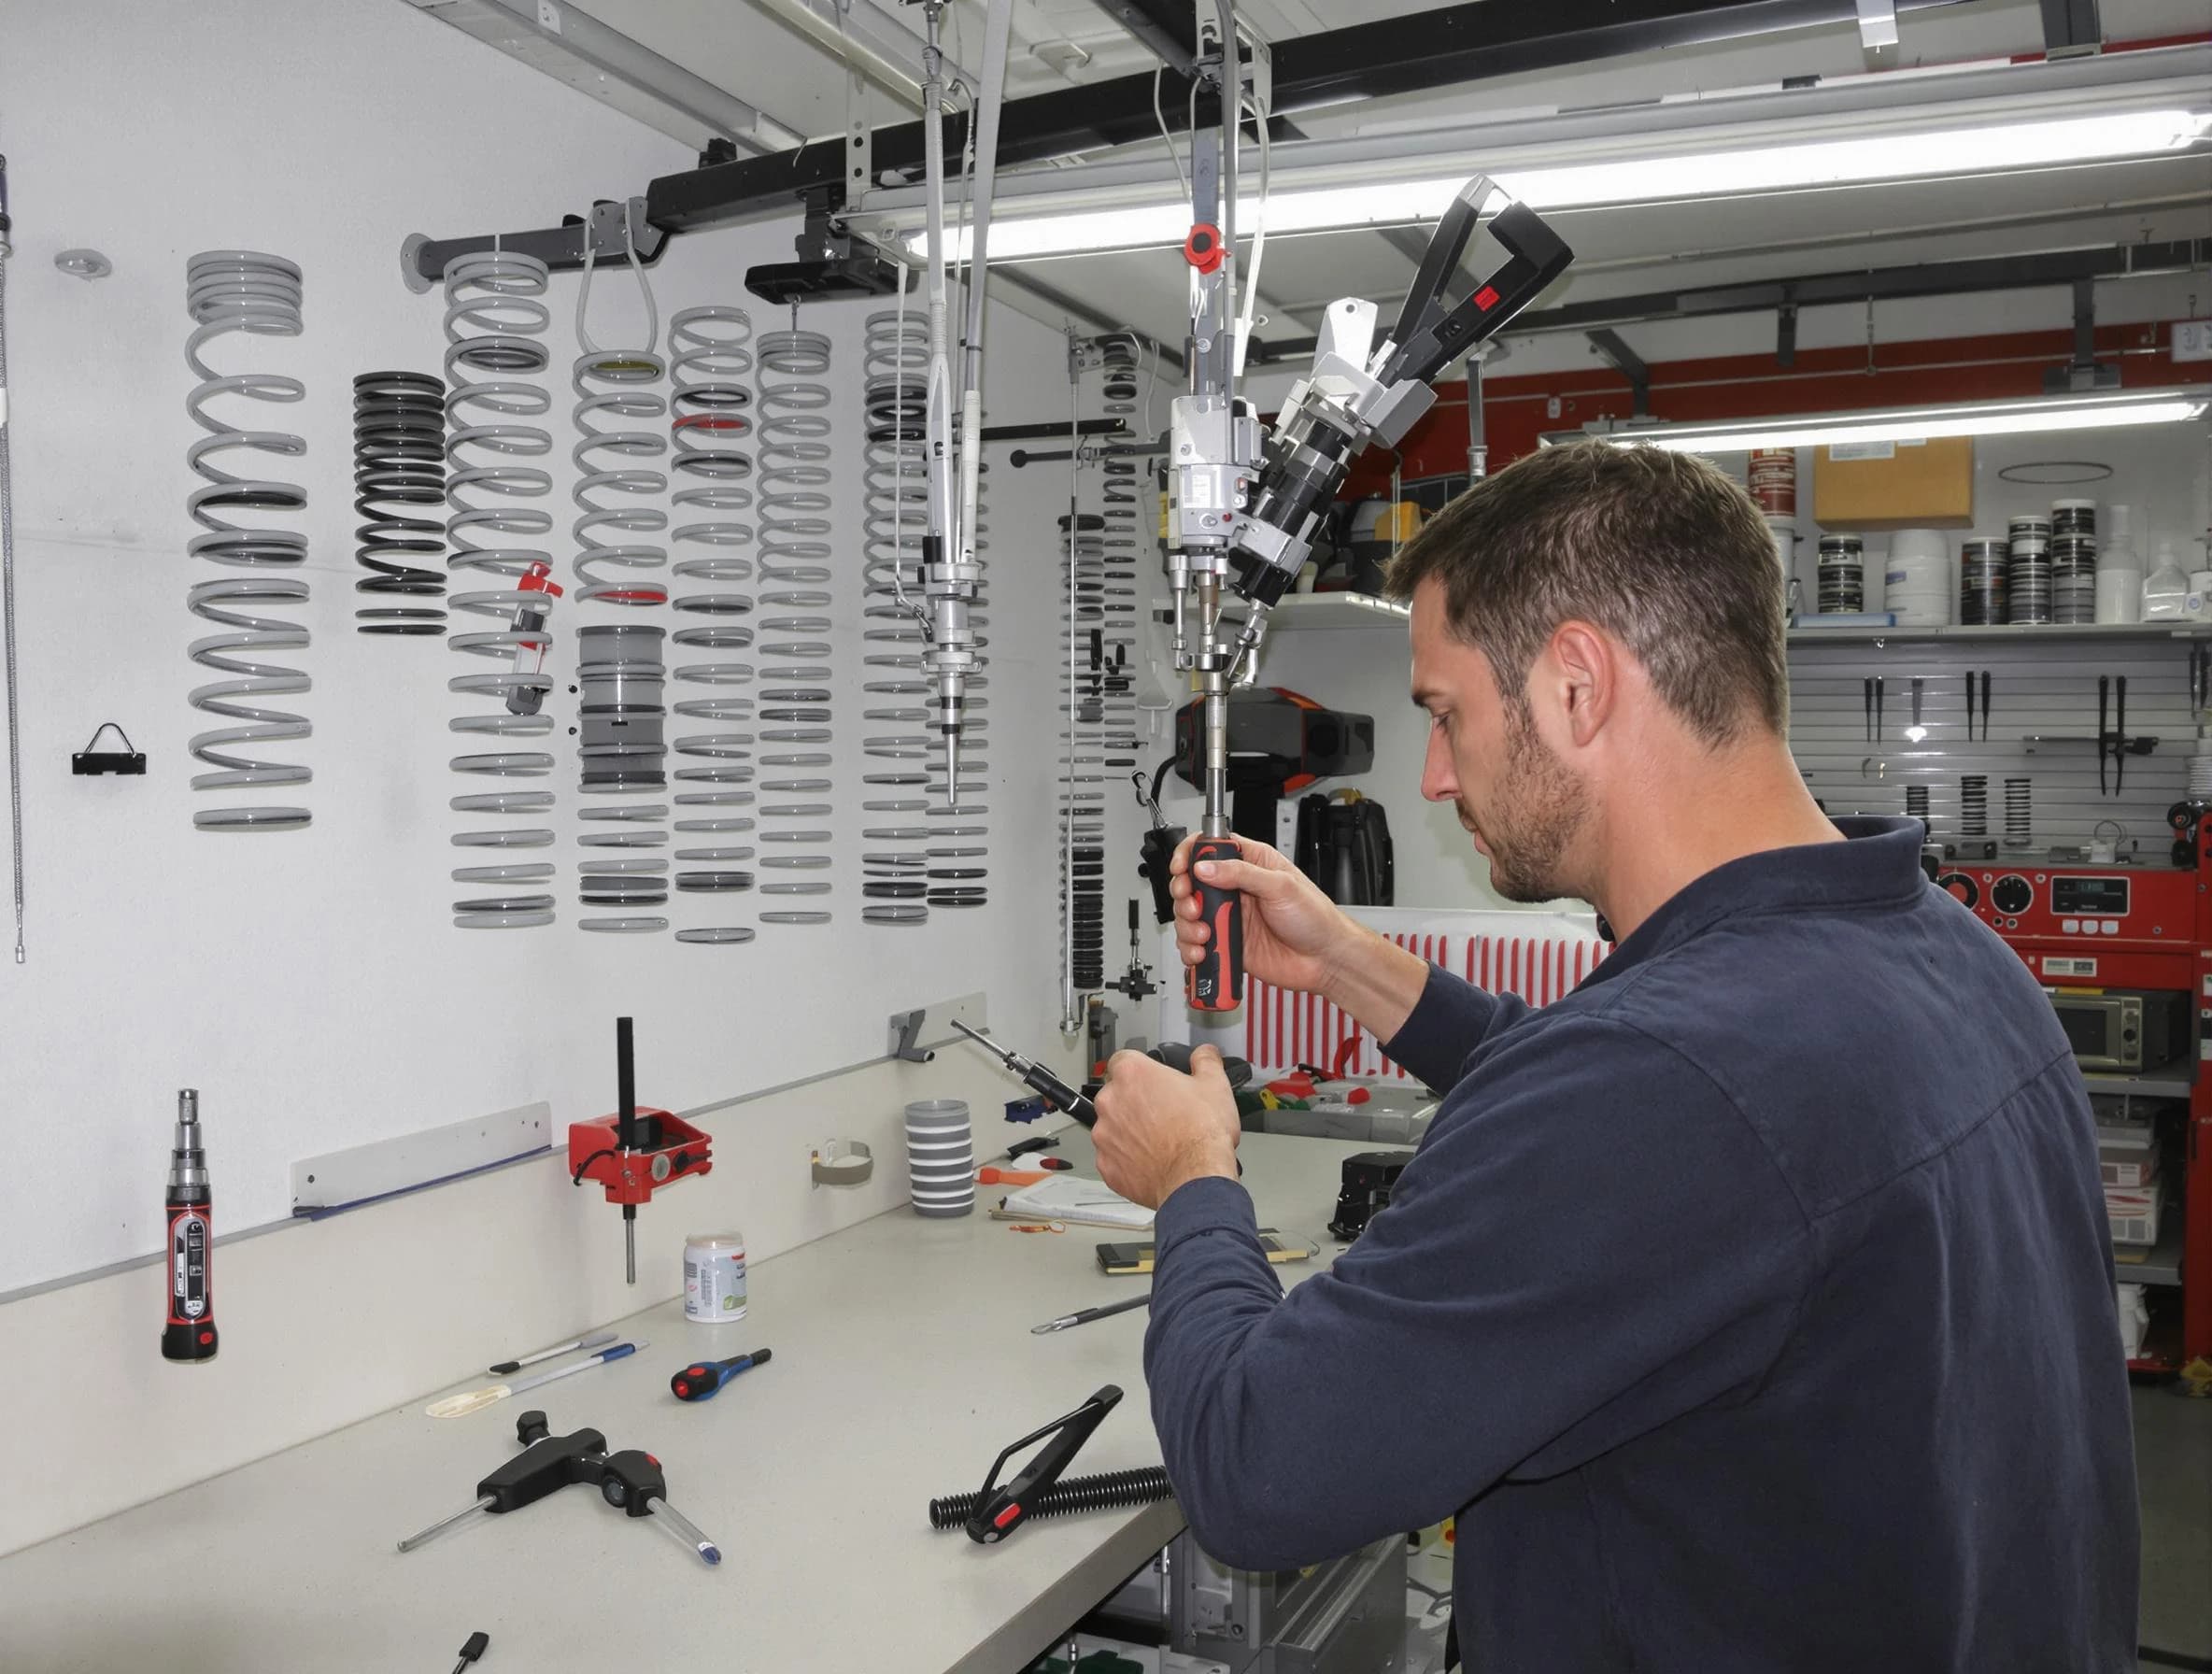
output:
[[[896,0],[847,2],[856,20],[878,31],[896,35],[920,29],[920,7]],[[440,0],[411,4],[436,11]],[[1263,38],[1287,40],[1420,13],[1431,4],[1433,0],[1241,0],[1237,13]],[[1509,0],[1489,4],[1504,7]],[[830,51],[745,0],[582,0],[582,9],[799,133],[838,133],[856,104],[869,122],[914,115],[911,104],[883,86],[856,82]],[[2170,38],[2203,31],[2205,9],[2203,0],[2101,0],[2101,22],[2110,42]],[[1882,69],[2035,53],[2042,46],[2042,11],[2037,0],[1971,0],[1931,13],[1907,13],[1900,31],[1900,46],[1885,57]],[[958,0],[949,9],[947,44],[956,62],[973,66],[982,46],[982,0]],[[1079,53],[1066,53],[1068,44]],[[1075,80],[1128,75],[1155,64],[1152,53],[1095,0],[1018,0],[1009,97],[1062,88]],[[1807,29],[1608,60],[1566,73],[1365,100],[1298,113],[1294,122],[1316,139],[1338,139],[1475,117],[1498,119],[1522,111],[1588,111],[1668,95],[1774,86],[1783,77],[1860,75],[1867,69],[1856,29]],[[1159,146],[1128,148],[1128,155],[1141,157],[1146,150],[1161,155]],[[1557,226],[1575,245],[1577,265],[1548,303],[1969,254],[2208,237],[2212,170],[2205,170],[2201,157],[2168,159],[2004,179],[1615,208],[1559,215]],[[1177,343],[1188,325],[1183,268],[1175,252],[1033,261],[1022,263],[1020,272],[1168,343]],[[1391,301],[1409,276],[1407,257],[1376,232],[1276,239],[1267,248],[1261,279],[1261,312],[1272,316],[1263,336],[1310,332],[1314,312],[1334,296]],[[1009,292],[1009,299],[1055,325],[1062,318],[1033,296]]]

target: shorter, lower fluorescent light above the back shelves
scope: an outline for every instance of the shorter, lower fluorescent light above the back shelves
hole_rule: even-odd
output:
[[[1553,431],[1544,447],[1590,436],[1615,447],[1659,447],[1668,453],[1747,453],[1754,447],[1836,447],[1843,442],[1924,442],[1936,436],[2022,436],[2037,431],[2183,425],[2212,409],[2205,389],[2121,389],[2099,396],[2033,396],[1975,400],[1955,407],[1745,418],[1730,425],[1621,425],[1608,431]]]

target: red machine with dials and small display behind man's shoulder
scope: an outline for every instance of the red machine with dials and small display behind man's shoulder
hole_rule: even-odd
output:
[[[2141,1283],[2181,1278],[2179,1336],[2157,1320],[2137,1371],[2212,1360],[2212,1086],[2197,1075],[2212,1035],[2212,823],[2177,809],[2188,865],[1955,862],[1936,882],[2002,935],[2051,993],[2093,1095],[2185,1099],[2181,1201]],[[2177,1260],[2179,1247],[2179,1260]],[[2119,1267],[2130,1283],[2132,1263]]]

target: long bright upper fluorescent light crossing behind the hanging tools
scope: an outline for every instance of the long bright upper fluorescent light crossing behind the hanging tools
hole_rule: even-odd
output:
[[[1535,210],[1599,203],[1657,203],[1697,197],[1743,197],[1829,186],[1867,186],[1944,175],[1997,175],[2026,168],[2157,157],[2185,150],[2212,130],[2201,111],[2121,111],[2088,117],[1933,126],[1916,133],[1856,135],[1805,146],[1750,146],[1559,168],[1504,168],[1498,186]],[[1440,159],[1438,159],[1440,161]],[[1413,164],[1420,168],[1420,164]],[[1270,234],[1433,221],[1467,181],[1469,168],[1371,179],[1356,186],[1276,186],[1265,203]],[[1237,223],[1254,226],[1259,199],[1237,206]],[[1172,197],[1117,208],[1022,215],[1000,201],[991,217],[991,254],[1004,261],[1064,257],[1086,250],[1172,248],[1190,230],[1190,206]],[[920,252],[922,234],[905,234]],[[967,234],[956,261],[967,259]]]

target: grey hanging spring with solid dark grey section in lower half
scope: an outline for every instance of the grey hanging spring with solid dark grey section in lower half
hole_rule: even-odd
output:
[[[653,464],[668,453],[659,420],[668,396],[659,383],[668,363],[657,354],[659,307],[637,250],[626,250],[646,310],[635,347],[602,349],[588,329],[593,245],[584,245],[584,279],[575,292],[575,343],[568,367],[575,394],[577,442],[571,451],[577,480],[577,517],[571,535],[575,601],[619,608],[628,619],[577,628],[577,686],[582,690],[582,809],[593,829],[577,836],[591,858],[577,869],[577,898],[604,909],[580,918],[577,929],[653,933],[668,929],[657,907],[668,902],[668,860],[641,854],[668,845],[668,805],[653,801],[597,801],[657,796],[668,789],[666,641],[657,621],[635,613],[668,601],[668,548],[655,540],[668,529],[668,509],[648,504],[668,493],[668,475]]]

